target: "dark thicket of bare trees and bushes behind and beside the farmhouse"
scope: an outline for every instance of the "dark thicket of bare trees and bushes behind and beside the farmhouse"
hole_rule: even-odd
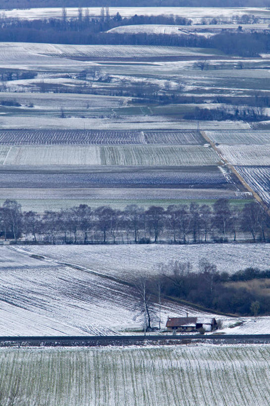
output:
[[[141,319],[145,330],[158,323],[160,327],[165,298],[185,300],[216,312],[269,314],[270,296],[258,289],[256,281],[270,280],[270,270],[246,268],[233,274],[220,273],[207,258],[201,258],[198,265],[199,270],[195,272],[190,262],[160,264],[154,276],[139,276],[133,281],[137,298],[135,318]]]

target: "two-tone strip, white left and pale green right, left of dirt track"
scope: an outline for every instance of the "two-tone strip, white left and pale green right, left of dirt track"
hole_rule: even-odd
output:
[[[5,165],[198,166],[219,161],[212,148],[201,145],[13,146],[6,157],[7,149],[1,147]]]

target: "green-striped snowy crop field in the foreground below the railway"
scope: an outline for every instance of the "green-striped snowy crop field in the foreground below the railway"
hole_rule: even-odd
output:
[[[1,348],[1,405],[268,406],[270,346]]]

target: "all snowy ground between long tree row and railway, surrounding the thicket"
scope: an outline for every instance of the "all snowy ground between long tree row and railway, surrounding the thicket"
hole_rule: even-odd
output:
[[[268,245],[1,246],[1,335],[136,334],[134,330],[141,328],[140,319],[134,320],[137,293],[123,280],[151,275],[161,262],[176,259],[194,258],[194,269],[202,257],[215,262],[219,271],[233,272],[249,266],[250,261],[266,269],[270,266]],[[187,312],[222,319],[227,334],[270,333],[270,317],[233,319],[166,300],[162,302],[162,328],[167,316]],[[241,327],[228,328],[239,321]]]

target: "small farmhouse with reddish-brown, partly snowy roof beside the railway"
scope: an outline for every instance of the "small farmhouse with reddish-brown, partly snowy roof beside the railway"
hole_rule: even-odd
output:
[[[196,331],[204,328],[205,331],[216,330],[217,323],[211,317],[168,317],[166,323],[167,331],[184,332]]]

